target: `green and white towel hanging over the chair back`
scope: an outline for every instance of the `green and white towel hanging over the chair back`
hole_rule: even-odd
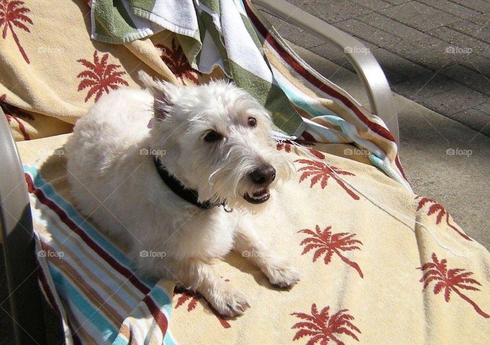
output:
[[[299,137],[301,116],[276,82],[240,0],[92,0],[92,38],[127,43],[163,29],[177,34],[192,68],[220,67],[272,113],[277,128]]]

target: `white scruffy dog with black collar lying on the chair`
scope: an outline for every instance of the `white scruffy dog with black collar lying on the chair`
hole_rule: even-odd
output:
[[[102,97],[66,145],[82,213],[124,241],[147,273],[198,291],[224,315],[250,307],[212,266],[232,249],[255,253],[248,259],[272,284],[297,283],[298,271],[248,219],[292,171],[275,150],[267,112],[225,82],[177,87],[140,78],[148,90]]]

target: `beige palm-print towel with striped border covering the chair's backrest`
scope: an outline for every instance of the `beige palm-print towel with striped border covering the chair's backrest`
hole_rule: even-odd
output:
[[[46,0],[8,4],[10,7],[1,3],[0,9],[7,6],[11,11],[10,20],[16,18],[16,22],[25,26],[5,26],[5,35],[0,39],[0,69],[3,71],[0,75],[0,105],[10,120],[16,140],[69,132],[72,124],[103,94],[119,87],[139,88],[137,72],[140,69],[176,85],[193,85],[207,83],[212,78],[226,78],[220,68],[214,68],[210,74],[193,69],[186,51],[189,51],[189,42],[195,45],[197,41],[168,30],[124,45],[91,41],[91,11],[83,0],[58,4],[56,11],[51,10],[51,3]],[[248,49],[252,49],[255,56],[265,56],[274,80],[269,87],[279,87],[274,87],[275,91],[271,93],[263,91],[262,87],[267,87],[267,84],[261,84],[260,81],[265,79],[245,69],[243,73],[237,72],[235,82],[265,102],[266,107],[272,103],[279,104],[278,107],[282,107],[281,104],[291,107],[290,112],[273,114],[278,126],[300,114],[307,128],[301,134],[301,139],[322,143],[352,143],[361,151],[369,151],[371,164],[410,189],[398,159],[395,140],[377,116],[366,111],[344,90],[304,63],[248,1],[209,4],[214,5],[209,5],[208,9],[214,8],[215,12],[220,9],[219,20],[224,23],[222,31],[226,32],[225,36],[229,36],[226,41],[224,36],[213,34],[214,22],[218,22],[214,18],[217,17],[209,14],[211,10],[206,12],[203,9],[197,18],[209,16],[213,19],[210,20],[212,23],[208,20],[208,26],[200,29],[200,33],[205,34],[204,38],[201,34],[199,36],[203,47],[211,46],[205,43],[208,41],[215,44],[231,42],[230,46],[246,39],[249,43],[250,40],[254,42],[255,48],[250,43]],[[216,4],[219,6],[216,7]],[[182,5],[182,8],[188,6]],[[241,18],[238,24],[242,25],[242,33],[236,40],[232,34],[238,29],[229,25],[228,15]],[[248,36],[243,34],[243,27]],[[199,61],[204,61],[203,56],[212,56],[211,50],[202,48]],[[228,50],[218,52],[218,58],[228,54]],[[236,64],[230,63],[230,66],[235,66],[236,71],[239,71],[239,59],[247,59],[247,54],[242,51],[230,54],[235,54],[238,61]],[[252,52],[250,54],[252,56]],[[263,58],[257,60],[257,66],[263,66],[263,63]],[[255,68],[253,64],[248,66]],[[264,71],[262,67],[259,69]],[[262,86],[255,89],[255,85]],[[281,100],[281,93],[287,96],[284,101]],[[264,95],[269,96],[264,99]],[[283,114],[283,120],[280,120],[278,114]]]

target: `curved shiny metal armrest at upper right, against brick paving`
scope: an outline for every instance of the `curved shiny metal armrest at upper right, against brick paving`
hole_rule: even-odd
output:
[[[284,0],[252,0],[252,2],[344,51],[366,90],[371,111],[386,123],[399,145],[398,117],[393,94],[383,70],[369,49],[349,34]]]

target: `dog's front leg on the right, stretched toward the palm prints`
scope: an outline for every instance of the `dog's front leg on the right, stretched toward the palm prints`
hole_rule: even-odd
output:
[[[273,285],[289,287],[301,278],[297,269],[267,248],[248,222],[242,221],[235,232],[234,249],[260,268]]]

